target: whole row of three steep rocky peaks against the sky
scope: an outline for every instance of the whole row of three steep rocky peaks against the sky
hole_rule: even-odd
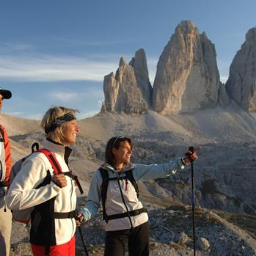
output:
[[[105,102],[101,112],[144,114],[151,109],[161,114],[178,114],[233,100],[245,111],[256,110],[256,28],[230,65],[224,85],[219,78],[216,51],[205,32],[191,21],[182,21],[161,54],[156,78],[150,84],[145,51],[136,51],[127,64],[123,58],[117,72],[104,77]]]

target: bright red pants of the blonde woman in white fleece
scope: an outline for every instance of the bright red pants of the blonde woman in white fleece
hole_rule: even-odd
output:
[[[31,244],[34,256],[45,256],[45,246]],[[48,256],[75,256],[75,235],[65,244],[50,246]]]

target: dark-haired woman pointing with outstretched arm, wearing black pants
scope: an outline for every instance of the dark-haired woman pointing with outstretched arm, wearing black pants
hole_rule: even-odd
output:
[[[197,159],[197,150],[188,151],[184,158],[166,164],[131,164],[134,145],[131,139],[116,136],[109,139],[105,164],[92,176],[86,206],[79,219],[88,221],[98,211],[100,200],[106,221],[105,256],[125,255],[125,245],[131,256],[149,255],[147,210],[138,199],[137,180],[167,177]],[[109,179],[108,179],[109,178]]]

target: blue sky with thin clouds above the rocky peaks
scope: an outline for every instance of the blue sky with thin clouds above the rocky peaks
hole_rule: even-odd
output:
[[[0,87],[12,90],[3,111],[40,119],[53,105],[100,111],[103,77],[144,48],[150,81],[164,46],[191,20],[216,46],[222,81],[246,32],[255,0],[0,0]]]

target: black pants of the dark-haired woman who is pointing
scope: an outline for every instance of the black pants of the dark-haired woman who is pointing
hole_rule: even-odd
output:
[[[148,222],[129,230],[106,232],[104,256],[123,256],[128,244],[130,256],[149,255],[149,226]]]

